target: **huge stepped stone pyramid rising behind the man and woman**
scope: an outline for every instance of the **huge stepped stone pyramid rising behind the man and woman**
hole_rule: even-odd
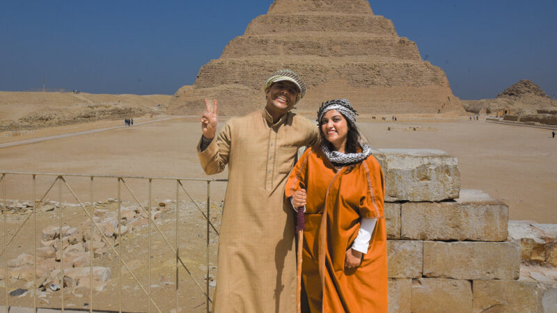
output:
[[[167,112],[201,114],[205,97],[219,100],[221,115],[262,108],[262,84],[281,68],[308,86],[301,112],[345,97],[360,113],[465,114],[444,71],[423,61],[416,43],[365,0],[275,0],[201,67],[193,86],[175,93]]]

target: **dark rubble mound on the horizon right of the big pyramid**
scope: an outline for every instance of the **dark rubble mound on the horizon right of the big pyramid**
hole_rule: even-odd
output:
[[[513,115],[557,112],[557,101],[528,79],[513,84],[495,99],[462,100],[462,104],[466,111],[476,114],[492,114],[505,109]]]

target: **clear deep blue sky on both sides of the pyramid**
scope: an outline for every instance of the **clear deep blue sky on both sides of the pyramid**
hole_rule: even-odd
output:
[[[341,0],[339,0],[341,1]],[[272,0],[3,1],[0,90],[172,95]],[[377,0],[461,99],[531,79],[557,95],[557,1]]]

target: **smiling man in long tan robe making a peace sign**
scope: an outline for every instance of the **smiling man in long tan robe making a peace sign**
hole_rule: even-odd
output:
[[[209,175],[228,164],[213,312],[295,312],[294,213],[284,184],[301,146],[317,143],[318,129],[290,109],[306,86],[291,70],[265,82],[266,105],[232,118],[215,137],[217,101],[201,118],[198,157]]]

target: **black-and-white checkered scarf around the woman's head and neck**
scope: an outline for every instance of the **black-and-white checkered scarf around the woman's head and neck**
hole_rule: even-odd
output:
[[[330,100],[323,102],[319,111],[317,111],[317,125],[321,125],[321,119],[327,111],[336,110],[342,114],[346,120],[352,125],[356,125],[356,110],[350,105],[347,99],[340,100]],[[321,149],[327,159],[331,161],[335,166],[347,166],[350,164],[358,163],[365,160],[371,154],[371,149],[365,143],[360,143],[362,151],[359,153],[342,153],[338,151],[330,151],[329,147],[324,143],[321,144]]]

